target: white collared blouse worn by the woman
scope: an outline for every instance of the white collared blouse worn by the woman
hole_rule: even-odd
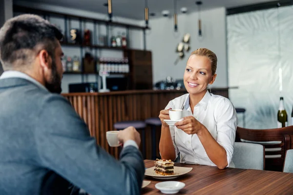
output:
[[[192,115],[189,105],[189,94],[169,101],[165,109],[169,108],[183,109],[184,113],[189,113],[189,116]],[[207,91],[204,98],[194,106],[193,117],[201,122],[209,130],[211,136],[225,148],[228,166],[234,167],[231,159],[238,121],[235,108],[230,100],[222,96],[210,94]],[[196,134],[188,135],[174,126],[169,126],[169,128],[176,158],[179,152],[181,163],[216,166],[209,159]]]

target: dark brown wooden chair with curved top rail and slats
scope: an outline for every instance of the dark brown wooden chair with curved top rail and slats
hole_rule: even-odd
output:
[[[285,153],[291,149],[293,141],[293,126],[260,130],[237,127],[235,141],[263,145],[265,170],[282,172]]]

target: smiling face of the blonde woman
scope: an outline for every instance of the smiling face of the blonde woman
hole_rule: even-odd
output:
[[[212,84],[216,74],[212,75],[211,63],[205,56],[191,55],[184,72],[184,85],[189,94],[206,93],[209,84]]]

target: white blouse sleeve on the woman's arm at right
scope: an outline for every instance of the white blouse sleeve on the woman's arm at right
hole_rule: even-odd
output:
[[[237,128],[237,114],[229,99],[221,100],[215,112],[217,121],[217,142],[226,150],[228,166],[233,156]],[[228,167],[227,166],[227,167]]]

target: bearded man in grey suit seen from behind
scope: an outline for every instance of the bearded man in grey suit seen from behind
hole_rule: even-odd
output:
[[[60,31],[34,15],[0,29],[0,195],[140,194],[145,167],[140,135],[120,131],[117,161],[90,137],[61,93]],[[71,184],[70,184],[71,183]]]

